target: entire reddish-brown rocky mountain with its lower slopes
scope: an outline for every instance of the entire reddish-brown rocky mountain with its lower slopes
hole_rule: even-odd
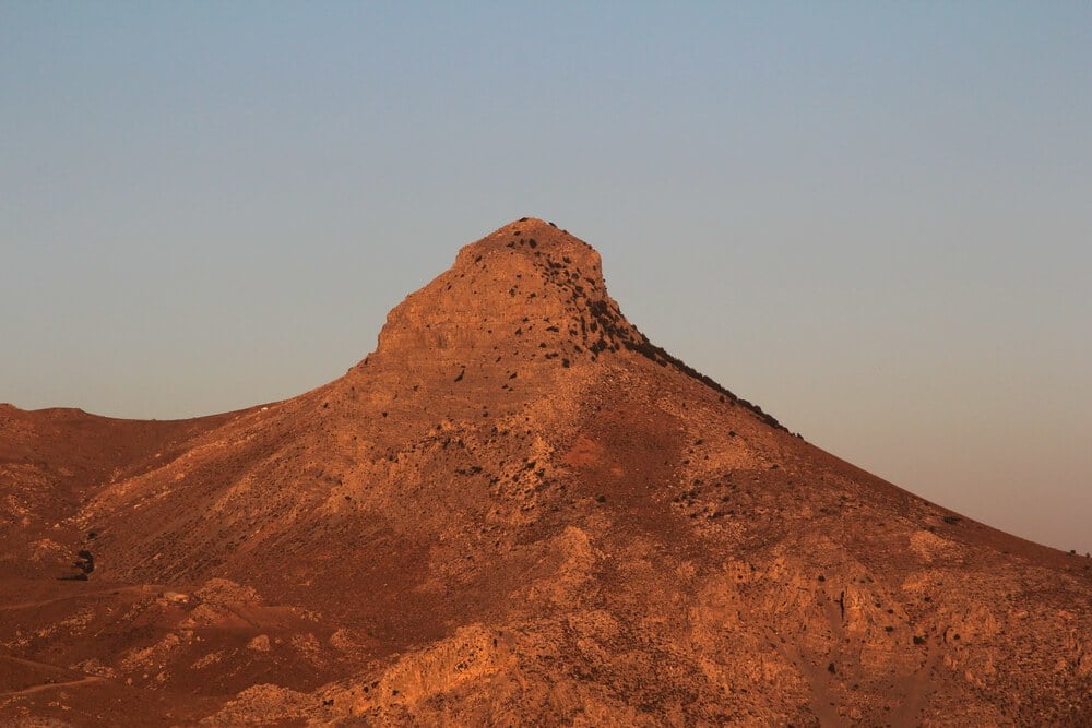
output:
[[[539,219],[293,399],[5,406],[0,477],[15,724],[1092,725],[1092,560],[792,434]]]

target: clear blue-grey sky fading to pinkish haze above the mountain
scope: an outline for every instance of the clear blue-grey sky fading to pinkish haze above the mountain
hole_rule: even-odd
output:
[[[1092,550],[1092,4],[0,3],[0,402],[299,394],[523,215],[810,442]]]

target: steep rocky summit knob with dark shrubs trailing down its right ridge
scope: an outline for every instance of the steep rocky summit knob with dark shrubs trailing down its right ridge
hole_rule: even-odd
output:
[[[674,369],[784,429],[652,344],[607,293],[600,254],[534,217],[464,246],[451,268],[388,314],[379,347],[360,366],[373,361],[400,372],[431,369],[448,377],[513,363],[568,369],[601,356],[639,357]]]

